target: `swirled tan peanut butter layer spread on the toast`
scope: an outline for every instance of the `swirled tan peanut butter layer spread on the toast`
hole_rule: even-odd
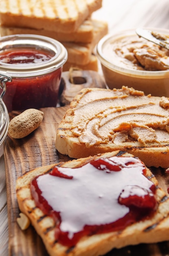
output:
[[[73,107],[75,105],[75,108]],[[169,99],[123,86],[117,90],[85,89],[71,105],[71,132],[87,148],[132,142],[136,146],[167,144]]]

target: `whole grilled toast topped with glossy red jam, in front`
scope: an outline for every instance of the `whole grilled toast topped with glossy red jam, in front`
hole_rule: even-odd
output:
[[[51,256],[98,256],[168,240],[168,195],[129,153],[36,168],[18,178],[16,193]]]

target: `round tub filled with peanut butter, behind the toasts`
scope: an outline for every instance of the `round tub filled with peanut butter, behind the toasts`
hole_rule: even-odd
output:
[[[145,28],[169,37],[169,30]],[[169,97],[169,50],[135,30],[103,37],[97,45],[105,81],[110,89],[128,86],[153,96]]]

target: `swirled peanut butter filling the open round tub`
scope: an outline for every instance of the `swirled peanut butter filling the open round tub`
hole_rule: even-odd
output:
[[[103,54],[120,67],[148,71],[169,69],[169,50],[137,35],[110,41]]]

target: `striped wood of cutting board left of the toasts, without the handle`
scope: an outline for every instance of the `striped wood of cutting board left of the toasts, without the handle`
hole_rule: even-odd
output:
[[[55,149],[57,125],[67,107],[42,108],[44,120],[41,126],[24,139],[4,142],[4,159],[7,181],[7,205],[9,221],[9,255],[45,256],[48,255],[43,243],[33,228],[21,231],[16,223],[19,216],[15,195],[15,181],[23,173],[38,166],[67,161],[70,158],[60,155]],[[13,114],[18,114],[17,112]]]

